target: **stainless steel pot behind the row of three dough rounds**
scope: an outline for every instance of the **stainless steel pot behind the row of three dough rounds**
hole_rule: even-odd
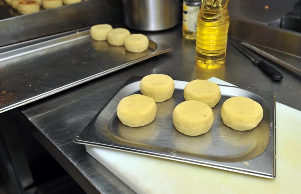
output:
[[[122,0],[124,23],[131,29],[161,31],[181,20],[180,0]]]

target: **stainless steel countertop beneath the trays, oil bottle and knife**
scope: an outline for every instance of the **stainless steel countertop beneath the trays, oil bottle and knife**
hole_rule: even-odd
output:
[[[291,11],[293,3],[296,1],[233,2],[241,2],[230,4],[230,13],[231,10],[237,9],[236,14],[232,12],[234,18],[240,17],[266,23]],[[262,11],[257,11],[256,5],[259,5],[258,9],[262,7]],[[270,6],[268,12],[264,10],[265,5]],[[277,9],[272,9],[273,7]],[[173,52],[157,56],[19,109],[35,126],[32,131],[34,136],[88,193],[99,191],[104,194],[134,193],[87,154],[83,145],[73,142],[73,138],[131,75],[145,76],[151,73],[162,73],[170,75],[175,80],[183,81],[208,79],[214,76],[240,87],[274,91],[278,102],[301,110],[301,103],[299,103],[301,101],[300,80],[286,71],[281,70],[284,78],[280,83],[272,82],[230,44],[228,44],[224,68],[201,69],[194,65],[195,43],[182,38],[181,26],[164,32],[145,34],[156,42],[171,46]]]

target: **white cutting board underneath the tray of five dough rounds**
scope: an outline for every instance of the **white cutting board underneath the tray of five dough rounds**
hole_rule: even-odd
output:
[[[301,111],[276,103],[276,140],[274,179],[107,148],[86,150],[137,193],[301,193]]]

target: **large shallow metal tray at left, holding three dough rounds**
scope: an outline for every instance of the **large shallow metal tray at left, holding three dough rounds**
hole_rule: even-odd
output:
[[[149,41],[142,53],[93,41],[89,31],[0,54],[0,113],[171,51]]]

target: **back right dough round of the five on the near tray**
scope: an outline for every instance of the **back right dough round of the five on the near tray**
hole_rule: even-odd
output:
[[[215,107],[221,99],[221,90],[218,85],[206,80],[193,80],[184,89],[185,100],[197,100]]]

